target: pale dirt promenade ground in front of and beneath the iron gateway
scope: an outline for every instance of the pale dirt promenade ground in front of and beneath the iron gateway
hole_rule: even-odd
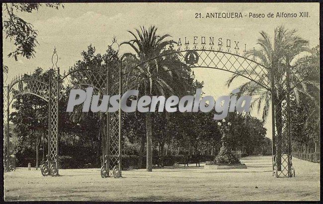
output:
[[[123,171],[102,179],[99,169],[60,170],[42,177],[32,168],[4,174],[5,201],[318,201],[320,164],[293,158],[295,178],[273,178],[271,157],[246,157],[247,169],[205,170],[190,164]]]

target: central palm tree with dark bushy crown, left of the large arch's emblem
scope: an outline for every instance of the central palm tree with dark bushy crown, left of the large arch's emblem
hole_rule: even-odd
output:
[[[160,55],[165,46],[170,44],[170,40],[165,40],[165,38],[170,37],[170,35],[157,35],[157,27],[155,26],[150,26],[148,29],[142,26],[140,29],[135,30],[136,34],[132,31],[128,31],[133,35],[134,39],[123,42],[120,45],[130,45],[136,54],[127,54],[130,54],[133,57],[133,64],[141,64],[140,66],[137,66],[133,72],[138,90],[142,90],[144,94],[148,96],[153,96],[153,94],[162,96],[171,95],[174,92],[171,87],[174,84],[172,83],[174,81],[173,79],[175,77],[177,77],[177,79],[182,78],[182,69],[169,69],[169,66],[166,66],[163,58],[149,60]],[[183,80],[178,81],[178,83],[181,82],[183,82]],[[151,172],[153,170],[153,158],[152,115],[150,112],[145,113],[145,122],[147,131],[147,171]],[[140,155],[140,159],[141,158],[142,155]]]

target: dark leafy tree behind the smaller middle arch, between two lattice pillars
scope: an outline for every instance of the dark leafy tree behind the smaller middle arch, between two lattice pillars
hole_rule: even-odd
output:
[[[113,50],[111,47],[109,47],[106,50],[106,53],[96,54],[95,53],[95,47],[92,45],[89,45],[87,48],[87,51],[83,51],[81,53],[82,59],[77,61],[76,64],[70,69],[70,72],[77,71],[77,70],[83,70],[83,69],[91,69],[100,73],[107,73],[107,67],[109,66],[109,69],[118,69],[118,56],[117,52]],[[100,85],[100,87],[106,87],[106,80],[103,78],[100,78],[96,74],[86,76],[85,72],[74,72],[71,75],[70,81],[72,84],[71,87],[81,87],[81,88],[87,88],[87,86],[84,85],[78,85],[82,84],[82,80],[85,77],[92,77],[93,79],[87,79],[88,81],[98,81],[97,84]],[[95,78],[95,79],[94,79]],[[116,82],[113,76],[111,78],[111,81]],[[71,88],[71,87],[68,87]],[[93,94],[100,94],[96,89],[93,89]],[[110,93],[111,94],[111,93]],[[67,102],[65,102],[67,104]],[[72,120],[73,122],[79,124],[76,128],[81,128],[83,135],[82,140],[83,142],[86,142],[93,148],[92,150],[95,152],[94,155],[96,155],[96,158],[99,158],[99,150],[97,149],[100,145],[102,148],[102,152],[106,152],[106,114],[103,112],[82,112],[82,105],[75,106],[74,111],[67,114],[67,117]],[[86,127],[86,128],[85,128]],[[83,129],[85,128],[85,129]],[[96,135],[96,137],[93,137],[93,135]],[[85,140],[87,138],[87,140]],[[95,145],[90,145],[90,144]]]

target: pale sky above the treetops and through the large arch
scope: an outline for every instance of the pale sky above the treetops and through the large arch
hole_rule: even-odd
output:
[[[54,46],[59,55],[58,66],[64,72],[81,59],[81,51],[92,43],[97,53],[104,53],[111,44],[113,35],[118,42],[132,39],[127,30],[140,25],[156,25],[159,34],[170,34],[175,41],[193,36],[219,37],[240,41],[247,49],[257,47],[256,39],[263,30],[273,36],[277,25],[298,30],[298,34],[310,41],[310,46],[319,44],[320,6],[319,3],[64,3],[59,10],[41,7],[33,13],[19,13],[38,30],[39,45],[33,59],[22,57],[15,61],[7,54],[13,51],[13,44],[3,39],[3,63],[9,67],[7,82],[19,73],[32,72],[36,67],[44,70],[52,66],[51,56]],[[3,9],[3,8],[2,8]],[[248,18],[249,12],[309,12],[309,17],[297,18]],[[242,18],[195,18],[207,12],[242,12]],[[242,49],[242,47],[241,47]],[[127,45],[120,47],[120,54],[130,51]],[[228,95],[245,80],[239,80],[228,89],[224,86],[231,73],[195,68],[196,79],[204,81],[204,92],[216,99]],[[261,117],[255,114],[254,116]],[[267,136],[271,138],[271,115],[266,120]]]

